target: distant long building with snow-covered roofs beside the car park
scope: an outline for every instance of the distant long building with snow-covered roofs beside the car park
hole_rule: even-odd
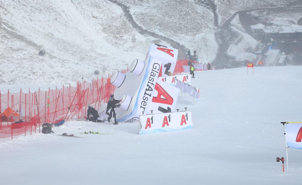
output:
[[[302,26],[264,26],[263,24],[251,25],[253,32],[262,32],[265,38],[272,38],[275,42],[292,43],[302,41]]]

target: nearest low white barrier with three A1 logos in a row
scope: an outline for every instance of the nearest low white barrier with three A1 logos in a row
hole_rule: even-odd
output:
[[[191,111],[140,116],[139,134],[152,134],[193,128]]]

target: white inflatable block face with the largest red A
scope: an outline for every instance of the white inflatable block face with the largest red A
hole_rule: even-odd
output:
[[[145,114],[174,112],[178,99],[179,89],[158,80],[153,93],[152,101]]]

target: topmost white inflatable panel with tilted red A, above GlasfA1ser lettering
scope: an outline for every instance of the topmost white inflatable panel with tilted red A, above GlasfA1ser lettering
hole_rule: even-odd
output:
[[[172,47],[162,46],[160,44],[150,44],[147,58],[152,56],[162,62],[161,76],[168,76],[168,70],[172,73],[175,69],[178,50]]]

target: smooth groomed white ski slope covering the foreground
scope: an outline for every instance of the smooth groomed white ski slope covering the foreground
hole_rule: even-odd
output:
[[[299,184],[301,150],[289,148],[285,173],[276,157],[286,157],[280,122],[302,120],[301,70],[197,72],[197,105],[178,99],[192,111],[185,131],[138,135],[138,123],[120,123],[113,135],[83,135],[111,125],[72,121],[55,134],[1,139],[1,184]],[[56,136],[65,132],[86,138]]]

